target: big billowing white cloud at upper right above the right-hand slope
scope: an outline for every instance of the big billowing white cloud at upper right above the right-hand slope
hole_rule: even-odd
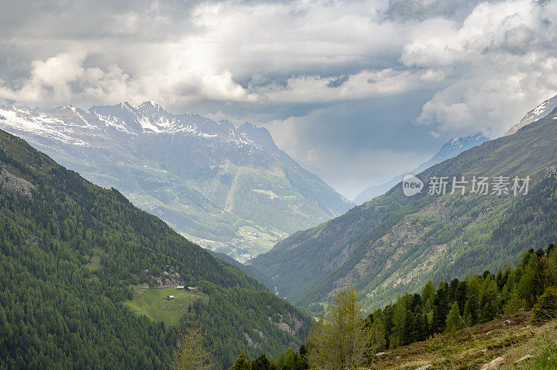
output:
[[[481,3],[462,24],[442,22],[405,45],[411,67],[446,67],[448,86],[424,104],[417,124],[445,135],[503,134],[533,106],[557,93],[554,4]],[[437,21],[436,21],[437,22]],[[503,108],[504,107],[504,108]]]

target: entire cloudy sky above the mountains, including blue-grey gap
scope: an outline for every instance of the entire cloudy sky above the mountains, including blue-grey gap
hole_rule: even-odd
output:
[[[269,129],[349,199],[557,94],[557,1],[1,1],[0,102]]]

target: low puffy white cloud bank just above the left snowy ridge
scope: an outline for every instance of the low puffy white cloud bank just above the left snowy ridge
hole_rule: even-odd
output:
[[[199,99],[256,100],[255,95],[247,93],[233,80],[228,70],[176,75],[167,70],[130,77],[118,65],[108,65],[104,69],[85,67],[85,60],[84,52],[74,52],[59,53],[45,61],[32,61],[30,76],[21,81],[21,86],[10,88],[0,81],[0,97],[35,104],[115,104],[149,99],[163,104],[184,104]]]

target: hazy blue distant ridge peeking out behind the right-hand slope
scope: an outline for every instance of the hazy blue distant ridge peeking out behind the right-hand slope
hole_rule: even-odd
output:
[[[441,146],[439,152],[432,156],[431,159],[428,159],[427,161],[421,163],[420,166],[414,168],[414,170],[411,170],[410,172],[408,172],[408,174],[418,175],[418,173],[427,170],[427,168],[430,168],[437,163],[446,161],[447,159],[454,158],[465,150],[469,150],[471,147],[476,147],[482,143],[485,143],[487,140],[488,139],[481,132],[478,132],[478,134],[466,136],[464,138],[453,138],[447,143],[444,143],[444,145]],[[386,182],[384,184],[366,188],[364,191],[359,193],[358,196],[356,196],[356,198],[354,199],[354,203],[362,204],[363,202],[367,202],[368,200],[372,200],[373,198],[386,193],[391,188],[393,188],[393,186],[401,182],[402,177],[404,177],[405,175],[407,174],[398,175],[397,177],[394,177],[389,182]]]

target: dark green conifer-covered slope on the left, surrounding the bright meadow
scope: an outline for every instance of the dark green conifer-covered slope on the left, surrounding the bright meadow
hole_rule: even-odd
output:
[[[308,332],[238,268],[0,131],[0,367],[166,367],[178,328],[123,305],[137,284],[197,287],[206,298],[184,312],[201,318],[221,367]]]

